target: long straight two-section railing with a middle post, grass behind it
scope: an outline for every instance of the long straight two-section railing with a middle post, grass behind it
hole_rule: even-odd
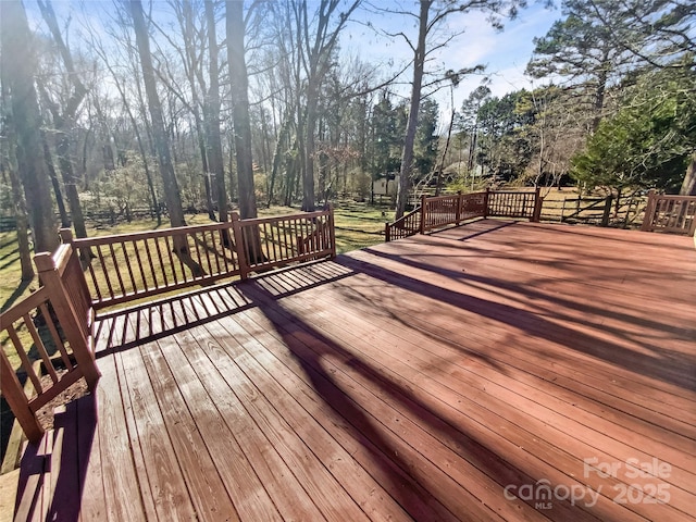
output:
[[[336,254],[333,211],[74,239],[95,309]]]

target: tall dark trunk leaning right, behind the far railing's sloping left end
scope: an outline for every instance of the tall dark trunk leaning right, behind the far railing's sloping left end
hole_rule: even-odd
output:
[[[415,57],[413,60],[413,84],[411,85],[411,103],[409,108],[409,120],[406,126],[406,137],[403,139],[403,153],[401,156],[401,169],[399,171],[399,188],[396,196],[395,220],[398,220],[403,215],[406,203],[409,199],[411,172],[413,170],[413,144],[415,141],[415,129],[418,127],[418,111],[421,107],[421,87],[423,83],[423,69],[425,66],[425,37],[427,36],[427,15],[432,3],[432,0],[421,0],[418,47],[415,48]]]

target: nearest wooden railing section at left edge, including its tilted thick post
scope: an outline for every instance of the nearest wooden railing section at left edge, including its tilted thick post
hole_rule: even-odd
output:
[[[2,396],[27,438],[36,443],[44,433],[36,411],[80,377],[94,389],[100,373],[91,345],[91,311],[73,247],[61,245],[53,256],[38,253],[34,262],[44,286],[0,315],[2,336],[16,350],[34,387],[33,396],[25,394],[4,347],[0,349],[0,366]],[[33,366],[34,350],[49,384],[41,382]],[[53,364],[53,351],[60,352],[65,372]]]

